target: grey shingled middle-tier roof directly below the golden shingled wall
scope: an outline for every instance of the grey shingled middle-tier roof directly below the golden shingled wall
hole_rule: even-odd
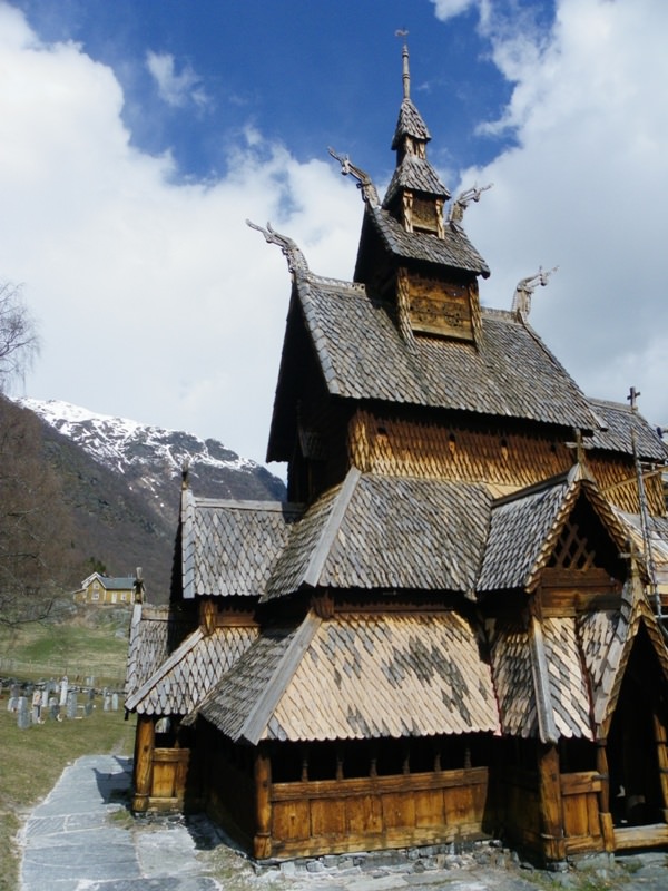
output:
[[[265,599],[304,585],[470,593],[489,506],[484,486],[353,468],[293,526]]]

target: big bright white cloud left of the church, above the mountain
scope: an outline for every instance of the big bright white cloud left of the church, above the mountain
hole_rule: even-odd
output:
[[[262,460],[291,284],[245,218],[347,276],[356,190],[257,130],[227,178],[177,184],[168,155],[131,146],[111,69],[1,3],[0,35],[0,278],[26,284],[43,339],[26,391]]]

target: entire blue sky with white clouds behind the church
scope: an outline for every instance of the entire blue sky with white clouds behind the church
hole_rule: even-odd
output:
[[[531,323],[584,391],[668,425],[664,0],[0,0],[0,280],[42,352],[18,394],[215,437],[262,460],[289,280],[352,275],[409,31],[430,159],[488,305],[559,271]]]

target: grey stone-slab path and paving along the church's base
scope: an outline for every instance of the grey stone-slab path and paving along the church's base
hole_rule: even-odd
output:
[[[205,819],[134,820],[131,762],[79,758],[27,820],[21,891],[666,891],[668,856],[592,858],[564,873],[522,869],[492,846],[418,863],[369,855],[254,868]],[[333,862],[336,865],[333,865]],[[499,864],[503,862],[503,866]]]

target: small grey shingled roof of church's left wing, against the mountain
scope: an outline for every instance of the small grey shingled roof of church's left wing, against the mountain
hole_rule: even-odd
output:
[[[184,598],[262,594],[302,511],[298,505],[196,498],[184,490]]]

